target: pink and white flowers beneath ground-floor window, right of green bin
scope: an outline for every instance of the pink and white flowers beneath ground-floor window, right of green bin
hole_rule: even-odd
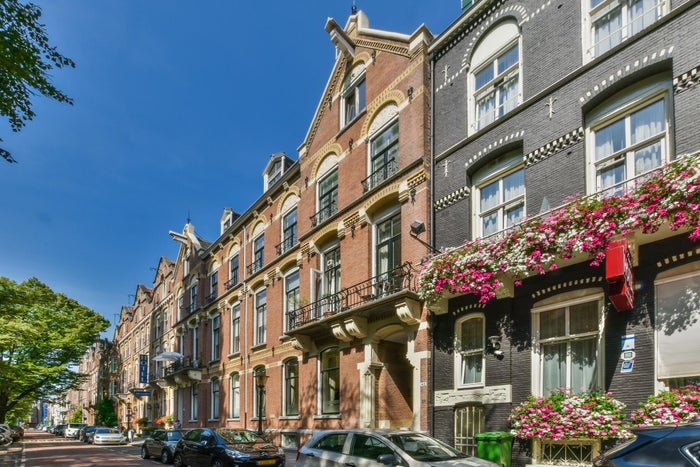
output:
[[[625,404],[610,392],[557,389],[547,397],[530,395],[508,420],[511,433],[522,440],[628,438],[624,410]]]

